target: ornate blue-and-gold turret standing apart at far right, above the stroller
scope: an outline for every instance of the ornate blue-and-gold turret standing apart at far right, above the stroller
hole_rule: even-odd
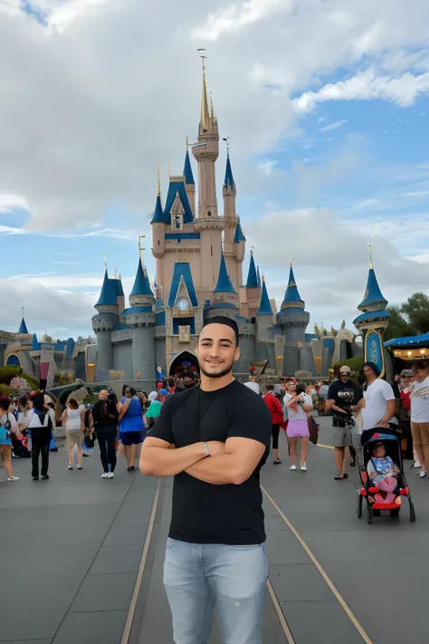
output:
[[[371,246],[369,248],[371,249]],[[377,364],[381,378],[386,372],[383,333],[391,317],[390,313],[386,311],[387,304],[388,302],[378,286],[370,250],[367,289],[364,299],[358,305],[358,311],[361,311],[361,313],[353,323],[362,335],[365,360],[370,360]]]

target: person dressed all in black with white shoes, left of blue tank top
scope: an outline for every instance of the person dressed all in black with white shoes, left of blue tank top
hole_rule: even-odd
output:
[[[100,460],[103,466],[101,478],[113,478],[116,467],[116,439],[118,437],[119,413],[114,393],[102,389],[99,400],[92,412],[92,426],[96,431],[100,446]]]

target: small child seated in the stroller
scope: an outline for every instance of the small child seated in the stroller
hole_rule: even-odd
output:
[[[374,495],[374,500],[380,504],[395,502],[396,505],[401,505],[396,478],[399,474],[399,467],[391,457],[386,456],[386,446],[382,440],[374,441],[371,447],[372,457],[367,462],[367,473],[372,485],[380,490]],[[369,500],[372,500],[371,497]]]

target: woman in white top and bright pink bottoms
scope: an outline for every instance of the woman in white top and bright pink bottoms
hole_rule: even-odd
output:
[[[310,396],[305,393],[306,386],[300,383],[296,390],[296,395],[287,393],[283,399],[284,406],[288,409],[288,435],[291,449],[291,470],[294,472],[297,468],[297,444],[300,438],[300,469],[301,472],[307,472],[307,453],[309,451],[310,429],[307,420],[307,414],[313,410],[313,404]]]

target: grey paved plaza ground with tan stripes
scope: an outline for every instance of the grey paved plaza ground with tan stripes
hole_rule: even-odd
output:
[[[312,447],[309,471],[291,472],[281,436],[283,464],[262,470],[264,644],[425,641],[429,480],[407,471],[415,524],[405,505],[399,521],[368,525],[355,511],[357,473],[334,481],[333,456]],[[0,484],[1,644],[172,644],[162,586],[172,481],[129,474],[123,459],[102,480],[97,455],[69,472],[64,447],[51,464],[51,480],[33,482],[29,460],[14,461],[21,480]]]

